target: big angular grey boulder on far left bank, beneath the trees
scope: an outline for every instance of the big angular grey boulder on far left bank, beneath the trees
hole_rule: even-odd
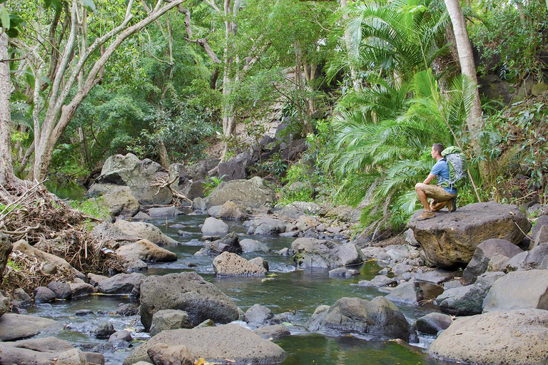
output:
[[[128,186],[141,205],[171,204],[173,195],[168,188],[158,189],[158,186],[151,186],[158,178],[169,178],[168,170],[159,163],[148,158],[139,160],[131,153],[125,156],[113,155],[106,159],[101,175],[89,188],[88,195]]]

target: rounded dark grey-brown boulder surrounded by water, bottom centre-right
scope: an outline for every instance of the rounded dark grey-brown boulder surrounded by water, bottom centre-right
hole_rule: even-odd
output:
[[[328,309],[318,307],[306,322],[309,331],[335,329],[376,334],[409,341],[412,329],[400,309],[385,297],[372,300],[341,298]]]

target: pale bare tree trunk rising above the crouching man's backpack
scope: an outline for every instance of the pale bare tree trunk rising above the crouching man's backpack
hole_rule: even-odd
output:
[[[447,12],[451,18],[453,31],[455,33],[455,42],[457,43],[457,52],[459,53],[460,69],[463,75],[468,76],[477,85],[476,66],[474,55],[472,53],[472,44],[466,29],[465,16],[462,15],[459,0],[445,0]],[[467,115],[467,125],[470,132],[472,149],[475,153],[480,153],[479,134],[482,131],[482,106],[480,103],[480,93],[475,89],[474,105],[470,114]]]

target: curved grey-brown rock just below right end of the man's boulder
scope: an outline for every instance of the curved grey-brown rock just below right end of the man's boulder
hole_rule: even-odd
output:
[[[462,273],[466,282],[475,282],[477,277],[483,274],[489,266],[489,261],[494,255],[503,255],[509,259],[523,252],[522,249],[507,240],[492,238],[477,245],[472,260]]]

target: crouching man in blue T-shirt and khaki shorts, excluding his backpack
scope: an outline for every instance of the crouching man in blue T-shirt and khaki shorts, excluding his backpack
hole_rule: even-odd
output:
[[[434,143],[432,145],[432,151],[430,154],[432,158],[436,160],[435,165],[430,170],[430,175],[422,183],[415,185],[415,191],[419,196],[420,202],[425,207],[425,211],[420,215],[420,219],[427,220],[435,216],[437,210],[442,209],[447,205],[447,209],[450,212],[455,212],[457,209],[456,197],[457,189],[455,187],[442,187],[441,183],[449,181],[449,166],[447,161],[442,156],[442,150],[444,147],[441,143]],[[438,185],[430,185],[430,181],[437,177]],[[427,198],[432,198],[430,205]]]

